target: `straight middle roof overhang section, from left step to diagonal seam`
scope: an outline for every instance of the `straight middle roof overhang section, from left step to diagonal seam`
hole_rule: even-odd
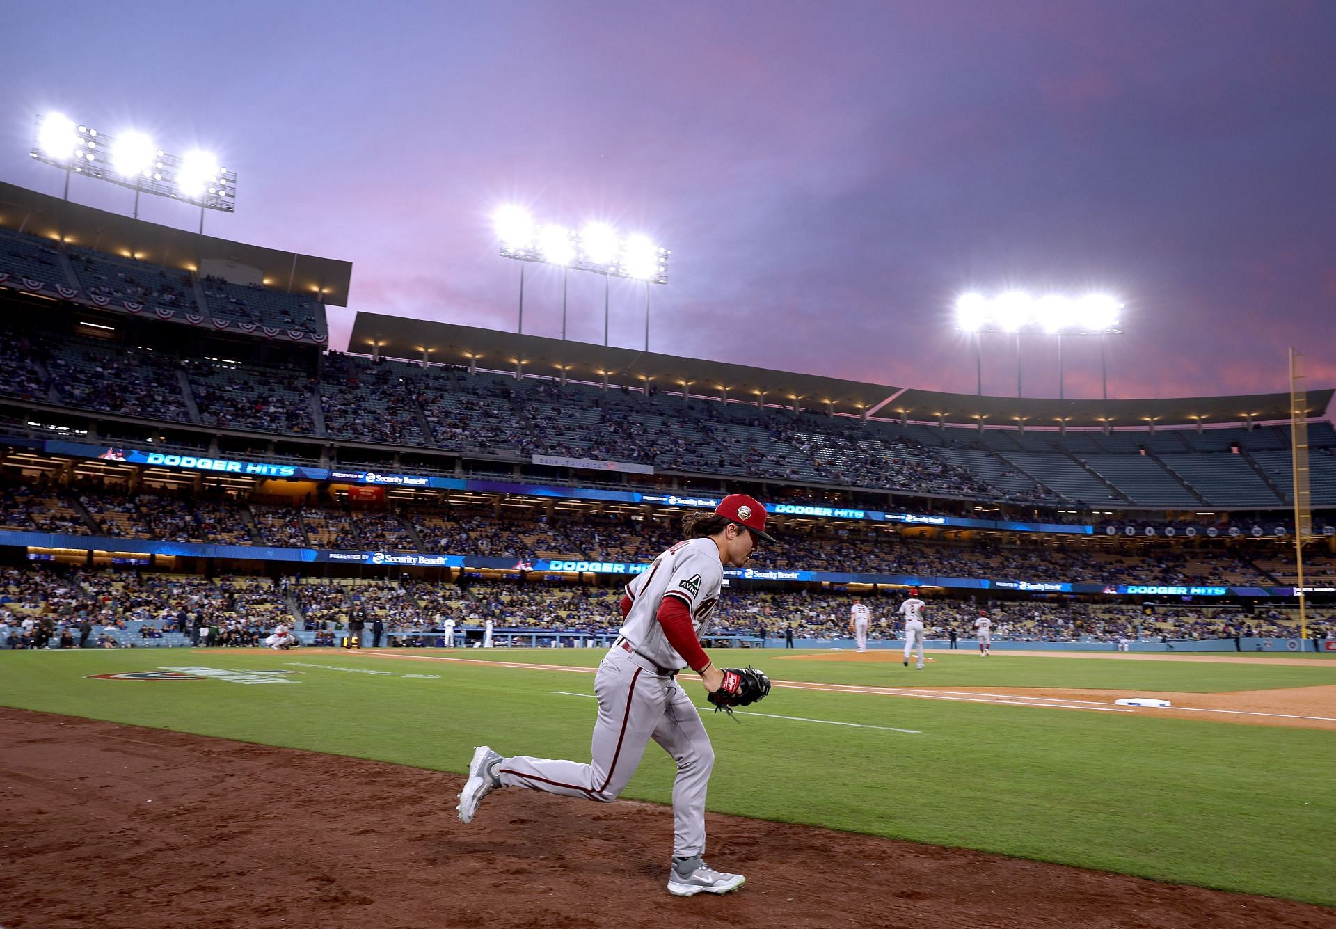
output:
[[[763,398],[767,404],[808,409],[834,409],[858,414],[894,396],[900,388],[862,384],[816,374],[795,374],[748,365],[729,365],[699,358],[573,342],[542,336],[458,326],[448,322],[403,319],[378,313],[358,313],[349,337],[349,352],[373,354],[373,348],[391,358],[421,361],[424,350],[432,362],[470,365],[489,370],[514,370],[524,360],[526,374],[566,377],[599,384],[651,384],[663,392],[680,393],[685,386],[699,396],[729,400]]]

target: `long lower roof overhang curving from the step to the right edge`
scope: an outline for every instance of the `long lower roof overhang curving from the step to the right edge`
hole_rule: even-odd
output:
[[[1169,400],[1043,400],[979,397],[863,384],[816,374],[776,372],[699,358],[605,348],[542,336],[460,326],[449,322],[405,319],[378,313],[358,313],[349,338],[349,352],[391,358],[426,360],[436,364],[488,370],[514,370],[524,360],[526,374],[566,377],[611,384],[653,384],[679,393],[684,382],[691,393],[731,400],[834,409],[859,414],[871,410],[880,418],[951,425],[1025,428],[1160,428],[1289,420],[1289,394],[1264,393],[1240,397],[1181,397]],[[1308,392],[1308,414],[1321,417],[1332,390]]]

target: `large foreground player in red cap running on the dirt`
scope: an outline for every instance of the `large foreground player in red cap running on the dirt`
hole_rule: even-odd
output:
[[[668,892],[691,897],[736,890],[744,878],[716,872],[703,858],[705,789],[715,751],[677,672],[691,667],[716,698],[743,688],[739,672],[711,663],[700,636],[719,600],[723,568],[743,567],[758,540],[774,539],[766,533],[766,508],[743,493],[724,497],[713,513],[688,513],[683,528],[685,540],[659,555],[627,584],[621,598],[621,635],[595,676],[599,716],[593,759],[581,765],[525,755],[502,758],[489,746],[478,746],[457,809],[460,819],[470,822],[482,798],[497,787],[613,801],[653,739],[677,762]]]

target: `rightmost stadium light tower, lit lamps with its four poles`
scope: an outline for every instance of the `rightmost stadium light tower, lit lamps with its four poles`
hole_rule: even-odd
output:
[[[989,299],[978,293],[962,294],[955,301],[955,325],[974,336],[974,365],[979,396],[983,396],[983,361],[979,348],[983,333],[1015,334],[1015,396],[1022,396],[1021,334],[1043,333],[1058,338],[1058,398],[1063,398],[1062,338],[1063,336],[1098,336],[1100,368],[1104,378],[1104,398],[1109,398],[1109,364],[1105,354],[1105,336],[1122,333],[1124,305],[1109,294],[1086,294],[1073,298],[1047,294],[1038,299],[1022,290],[1007,290]]]

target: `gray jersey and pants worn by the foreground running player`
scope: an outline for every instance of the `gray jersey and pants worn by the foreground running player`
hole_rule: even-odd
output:
[[[705,787],[715,753],[700,714],[677,683],[685,666],[657,620],[659,606],[676,598],[691,612],[696,638],[719,602],[723,581],[719,548],[711,539],[680,541],[627,584],[631,608],[621,636],[599,664],[599,698],[588,765],[516,755],[501,761],[501,786],[529,787],[565,797],[613,801],[631,782],[649,739],[677,762],[673,782],[673,855],[705,849]]]

